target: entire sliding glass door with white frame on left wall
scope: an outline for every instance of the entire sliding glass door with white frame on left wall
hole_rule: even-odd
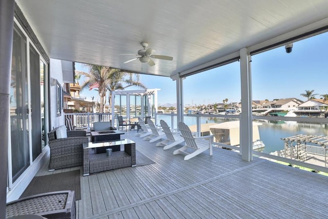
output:
[[[12,48],[9,189],[47,145],[47,63],[16,23]]]

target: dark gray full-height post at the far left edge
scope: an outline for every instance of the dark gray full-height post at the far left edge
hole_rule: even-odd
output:
[[[0,218],[6,218],[8,142],[9,142],[9,96],[14,29],[14,1],[0,1]],[[18,152],[16,152],[18,153]]]

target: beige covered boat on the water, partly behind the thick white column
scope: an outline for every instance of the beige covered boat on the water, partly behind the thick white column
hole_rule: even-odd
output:
[[[260,141],[260,133],[258,126],[261,123],[253,122],[253,150],[264,148],[265,145]],[[226,145],[239,147],[239,121],[231,121],[215,124],[210,126],[210,131],[214,135],[214,141]]]

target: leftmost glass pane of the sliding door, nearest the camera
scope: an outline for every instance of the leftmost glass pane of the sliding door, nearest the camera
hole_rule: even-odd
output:
[[[26,54],[26,37],[14,25],[10,82],[12,182],[17,180],[30,164]]]

